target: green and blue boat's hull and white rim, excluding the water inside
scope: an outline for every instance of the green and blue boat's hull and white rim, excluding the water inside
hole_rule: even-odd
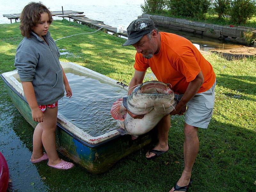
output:
[[[119,82],[116,80],[75,63],[61,62],[61,66],[66,74],[72,71],[76,75],[90,76],[108,85],[127,90],[124,84],[118,84]],[[31,110],[23,97],[24,93],[17,70],[3,73],[1,77],[13,104],[26,121],[35,128],[37,123],[33,121]],[[97,136],[92,136],[84,130],[86,127],[81,129],[74,122],[58,114],[56,145],[60,153],[95,174],[108,171],[121,158],[148,145],[156,135],[156,131],[152,130],[141,135],[138,139],[132,140],[131,135],[120,135],[116,130]]]

